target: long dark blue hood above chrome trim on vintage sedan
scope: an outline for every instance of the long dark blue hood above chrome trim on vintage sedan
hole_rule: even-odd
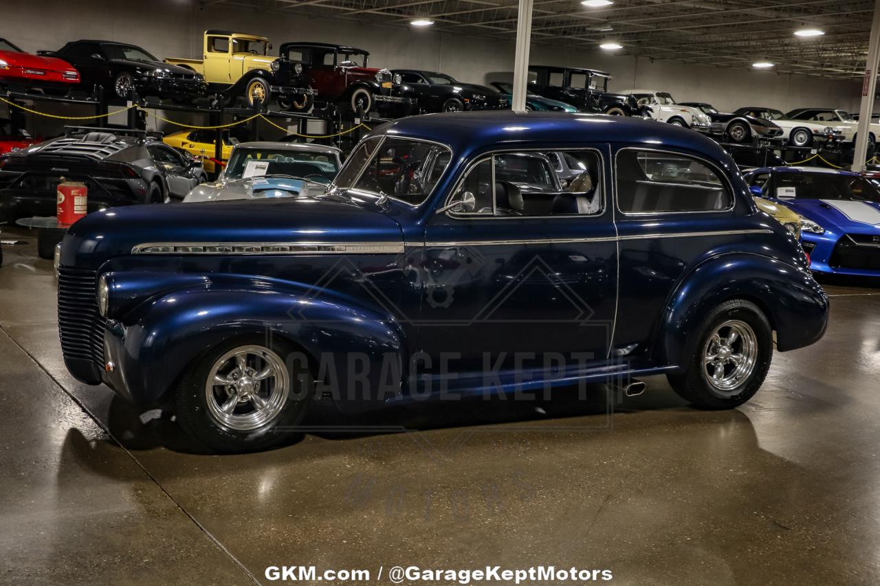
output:
[[[73,224],[62,265],[97,268],[136,245],[402,243],[392,217],[342,198],[267,198],[110,208]]]

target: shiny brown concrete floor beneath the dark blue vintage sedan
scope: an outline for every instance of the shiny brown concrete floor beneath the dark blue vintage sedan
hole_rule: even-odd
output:
[[[828,285],[825,339],[774,355],[735,411],[686,407],[655,377],[623,401],[420,406],[355,421],[411,433],[216,457],[68,375],[52,263],[17,237],[0,267],[2,583],[265,583],[267,566],[312,564],[383,566],[371,583],[487,564],[880,582],[880,289]]]

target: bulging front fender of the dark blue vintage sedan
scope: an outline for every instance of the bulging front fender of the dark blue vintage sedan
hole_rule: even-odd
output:
[[[151,298],[126,324],[109,320],[106,360],[114,369],[106,382],[136,403],[156,404],[210,348],[265,335],[301,352],[322,392],[343,410],[379,406],[400,392],[404,336],[390,316],[346,296],[315,297],[307,286],[252,281],[175,289]]]

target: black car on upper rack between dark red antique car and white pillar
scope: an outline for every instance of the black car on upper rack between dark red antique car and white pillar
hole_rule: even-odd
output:
[[[422,70],[392,70],[400,75],[418,96],[419,109],[430,112],[464,112],[466,110],[505,110],[508,99],[485,85],[464,84],[445,73]]]

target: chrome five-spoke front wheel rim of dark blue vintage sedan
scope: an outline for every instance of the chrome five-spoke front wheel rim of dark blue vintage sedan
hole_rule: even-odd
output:
[[[249,345],[220,356],[205,382],[209,414],[236,431],[260,429],[282,412],[290,377],[282,358],[269,348]]]

